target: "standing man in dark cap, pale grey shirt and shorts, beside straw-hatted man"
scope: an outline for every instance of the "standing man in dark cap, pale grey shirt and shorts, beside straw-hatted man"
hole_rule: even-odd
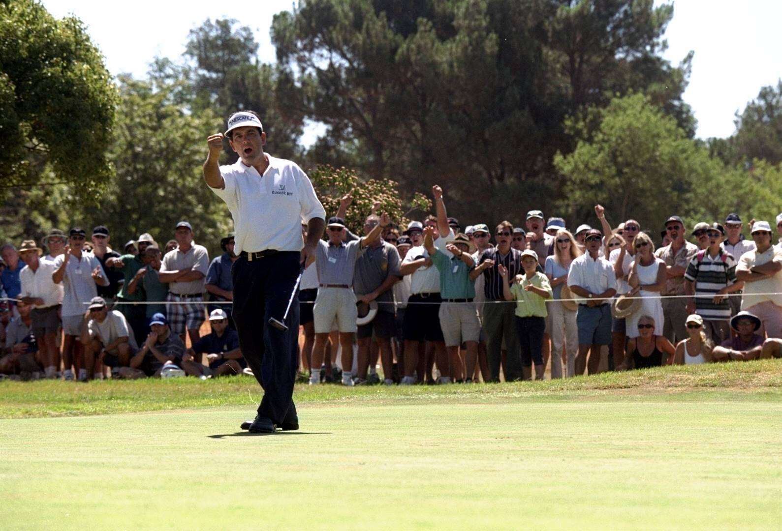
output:
[[[68,235],[68,244],[63,249],[63,255],[55,258],[55,272],[52,274],[54,283],[63,283],[63,369],[66,380],[74,380],[77,372],[79,381],[91,380],[94,376],[95,363],[84,360],[81,345],[81,332],[84,326],[84,302],[98,296],[96,284],[108,286],[109,279],[98,258],[83,252],[87,233],[84,229],[74,227]]]

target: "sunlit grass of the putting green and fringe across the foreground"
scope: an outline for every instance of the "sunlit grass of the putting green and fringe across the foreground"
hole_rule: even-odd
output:
[[[780,372],[302,387],[268,436],[249,379],[2,383],[0,528],[779,529]]]

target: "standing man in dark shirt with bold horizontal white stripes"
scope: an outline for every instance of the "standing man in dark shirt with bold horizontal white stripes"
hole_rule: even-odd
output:
[[[736,260],[721,244],[725,229],[719,223],[708,226],[708,247],[691,259],[684,273],[687,313],[703,318],[703,330],[716,344],[730,338],[730,302],[726,294],[741,289],[736,283]]]

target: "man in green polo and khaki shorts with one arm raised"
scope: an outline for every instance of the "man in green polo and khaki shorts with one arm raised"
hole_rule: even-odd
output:
[[[472,302],[475,298],[475,281],[470,280],[470,272],[475,268],[475,262],[472,260],[475,246],[468,237],[459,233],[452,243],[446,244],[449,256],[435,247],[434,228],[427,226],[424,229],[424,248],[439,271],[440,297],[443,298],[439,308],[439,320],[450,368],[438,367],[440,383],[450,382],[451,377],[454,380],[472,382],[481,333],[478,309]],[[462,342],[467,347],[466,368],[465,360],[459,353]]]

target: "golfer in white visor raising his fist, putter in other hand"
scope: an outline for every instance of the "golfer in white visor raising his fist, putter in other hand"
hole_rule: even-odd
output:
[[[217,162],[224,136],[239,155],[231,166]],[[204,179],[234,219],[234,252],[239,258],[231,267],[231,278],[239,347],[264,388],[255,420],[244,422],[242,429],[252,433],[273,433],[276,426],[299,429],[292,400],[299,305],[291,306],[286,330],[270,326],[269,319],[282,321],[300,264],[308,257],[315,259],[326,212],[299,166],[264,153],[266,133],[256,112],[235,112],[228,118],[225,134],[213,134],[206,143]],[[307,224],[307,241],[302,239],[302,223]]]

